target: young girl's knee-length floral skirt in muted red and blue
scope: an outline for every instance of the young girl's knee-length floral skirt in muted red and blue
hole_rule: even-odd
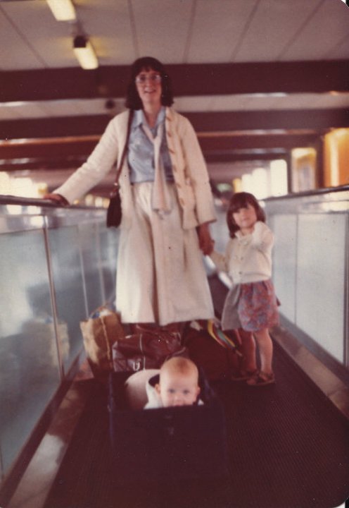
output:
[[[258,332],[279,323],[272,281],[235,284],[229,290],[222,313],[222,329],[242,328],[246,332]]]

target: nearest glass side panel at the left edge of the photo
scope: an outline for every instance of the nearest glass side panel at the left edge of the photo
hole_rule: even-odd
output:
[[[0,447],[8,471],[60,383],[42,230],[0,235]]]

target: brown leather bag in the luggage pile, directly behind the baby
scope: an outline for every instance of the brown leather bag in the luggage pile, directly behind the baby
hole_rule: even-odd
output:
[[[166,329],[135,333],[120,337],[113,344],[113,367],[115,372],[160,368],[172,356],[186,356],[181,334]]]

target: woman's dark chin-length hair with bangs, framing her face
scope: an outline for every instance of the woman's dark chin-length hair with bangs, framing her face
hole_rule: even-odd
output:
[[[132,63],[131,78],[129,80],[126,94],[126,107],[129,109],[143,108],[135,81],[136,76],[139,75],[141,71],[156,71],[161,75],[161,104],[163,104],[163,106],[172,106],[173,95],[171,82],[163,64],[157,59],[154,59],[152,56],[143,56]]]

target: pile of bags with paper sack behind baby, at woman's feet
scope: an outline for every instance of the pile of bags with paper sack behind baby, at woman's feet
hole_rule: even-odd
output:
[[[108,305],[94,310],[80,322],[91,371],[98,380],[110,372],[137,372],[160,368],[172,356],[186,356],[209,380],[229,377],[239,364],[239,340],[225,334],[216,320],[185,324],[132,325],[130,333],[120,315]]]

